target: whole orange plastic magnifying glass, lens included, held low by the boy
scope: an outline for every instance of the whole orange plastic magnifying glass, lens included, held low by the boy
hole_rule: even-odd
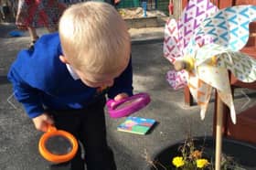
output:
[[[38,143],[39,153],[49,162],[64,163],[71,160],[78,151],[78,141],[66,131],[49,125]]]

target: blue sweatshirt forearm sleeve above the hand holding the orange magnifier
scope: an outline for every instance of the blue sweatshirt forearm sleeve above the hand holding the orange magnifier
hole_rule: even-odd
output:
[[[13,84],[16,100],[21,102],[30,118],[35,118],[44,112],[42,102],[39,98],[40,90],[27,85],[19,76],[18,71],[12,67],[7,75]]]

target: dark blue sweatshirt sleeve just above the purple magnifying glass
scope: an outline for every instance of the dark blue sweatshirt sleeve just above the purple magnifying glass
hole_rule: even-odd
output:
[[[133,67],[132,58],[123,73],[114,80],[114,85],[108,91],[108,97],[113,99],[117,94],[125,92],[129,96],[133,95]]]

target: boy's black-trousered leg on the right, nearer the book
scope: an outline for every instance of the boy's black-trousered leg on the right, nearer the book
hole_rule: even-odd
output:
[[[114,156],[106,139],[104,105],[105,99],[92,104],[82,118],[81,142],[88,170],[116,169]]]

